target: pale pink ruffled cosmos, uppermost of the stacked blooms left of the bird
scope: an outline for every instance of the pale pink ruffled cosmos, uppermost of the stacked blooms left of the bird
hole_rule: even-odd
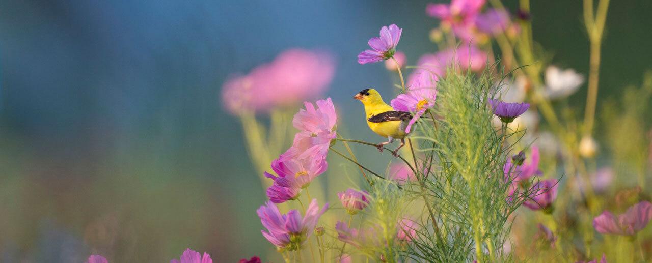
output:
[[[310,102],[304,105],[306,109],[299,110],[292,120],[293,126],[301,131],[295,135],[293,145],[281,155],[282,161],[326,156],[331,140],[337,136],[334,130],[337,115],[331,98],[318,100],[318,109]]]

